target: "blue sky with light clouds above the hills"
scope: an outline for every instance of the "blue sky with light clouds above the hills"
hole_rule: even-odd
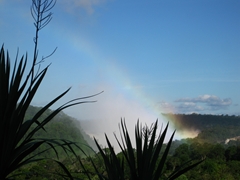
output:
[[[0,41],[12,59],[17,48],[32,57],[30,5],[0,0]],[[238,0],[58,0],[40,31],[40,57],[58,49],[43,64],[52,63],[33,105],[68,87],[57,105],[104,91],[97,103],[66,110],[101,122],[99,132],[121,117],[134,124],[164,112],[239,115],[239,9]]]

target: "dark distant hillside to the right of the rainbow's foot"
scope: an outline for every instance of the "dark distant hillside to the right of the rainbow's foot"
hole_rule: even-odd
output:
[[[240,117],[228,115],[163,114],[177,131],[195,130],[195,140],[209,143],[236,144],[240,136]],[[231,139],[232,138],[232,139]]]

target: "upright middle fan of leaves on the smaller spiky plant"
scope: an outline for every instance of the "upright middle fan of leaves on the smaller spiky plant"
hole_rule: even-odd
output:
[[[161,177],[174,133],[172,134],[163,155],[160,157],[168,124],[163,133],[160,133],[157,136],[157,123],[158,121],[156,121],[150,129],[147,127],[143,129],[142,126],[139,125],[139,122],[137,122],[135,127],[136,150],[134,150],[127,126],[124,121],[121,121],[123,146],[120,144],[117,137],[116,139],[122,152],[124,152],[123,154],[128,162],[132,179],[159,179]],[[158,162],[159,158],[161,158],[160,162]]]

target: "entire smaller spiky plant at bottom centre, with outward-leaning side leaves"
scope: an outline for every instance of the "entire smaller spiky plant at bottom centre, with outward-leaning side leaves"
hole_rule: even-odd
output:
[[[175,170],[170,175],[164,174],[164,165],[167,160],[169,149],[175,134],[173,132],[166,147],[163,147],[164,140],[167,134],[168,124],[162,133],[157,134],[158,121],[150,128],[142,127],[139,122],[135,126],[135,148],[130,139],[125,121],[121,120],[121,141],[116,137],[117,143],[121,149],[122,157],[119,157],[113,146],[111,145],[107,135],[106,141],[109,151],[104,151],[95,139],[99,153],[104,160],[105,174],[100,172],[94,161],[92,165],[99,179],[132,179],[132,180],[158,180],[158,179],[176,179],[183,173],[197,166],[202,162],[192,163],[189,161],[182,165],[181,168]],[[83,164],[82,164],[83,166]],[[125,167],[127,166],[127,167]],[[125,169],[129,169],[130,173],[126,173]]]

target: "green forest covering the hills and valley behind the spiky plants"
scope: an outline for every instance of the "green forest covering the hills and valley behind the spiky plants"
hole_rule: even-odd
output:
[[[30,106],[27,111],[26,118],[34,114],[39,108]],[[48,110],[43,116],[47,116],[51,110]],[[166,114],[165,114],[166,115]],[[170,116],[170,114],[169,114]],[[173,116],[173,114],[171,114]],[[178,119],[179,115],[174,115]],[[182,174],[176,179],[239,179],[240,178],[240,140],[230,140],[225,143],[225,139],[239,135],[239,117],[238,116],[218,116],[218,115],[201,115],[181,114],[181,121],[194,122],[196,128],[201,129],[199,135],[195,138],[187,138],[174,140],[171,144],[167,160],[164,164],[163,174],[160,179],[167,179],[168,175],[174,170],[180,168],[183,164],[193,161],[197,162],[204,159],[199,165]],[[197,117],[197,118],[196,118]],[[197,120],[196,120],[197,119]],[[201,126],[197,126],[200,124]],[[229,127],[231,127],[229,129]],[[76,119],[61,112],[52,122],[46,126],[47,132],[39,132],[36,136],[44,138],[64,138],[79,142],[79,145],[88,156],[85,156],[79,149],[76,151],[81,157],[85,170],[74,156],[66,157],[64,152],[60,151],[61,161],[66,165],[69,171],[76,179],[88,179],[87,171],[91,179],[99,179],[97,172],[94,169],[91,161],[97,169],[101,170],[102,174],[106,174],[104,159],[99,151],[95,151],[96,147],[88,148],[88,142],[94,140],[89,137],[84,130],[81,129],[81,124]],[[85,134],[83,136],[83,134]],[[46,147],[41,147],[45,149]],[[166,148],[164,144],[163,149]],[[41,149],[39,149],[41,151]],[[110,154],[109,148],[103,148],[106,154]],[[163,153],[163,150],[160,153]],[[55,158],[53,152],[43,153],[41,156]],[[122,152],[117,154],[117,157],[122,157]],[[125,168],[125,179],[129,178],[130,170],[128,166]],[[16,179],[64,179],[59,176],[63,173],[62,169],[51,160],[44,160],[22,167],[15,173],[27,172],[24,175],[17,176]]]

